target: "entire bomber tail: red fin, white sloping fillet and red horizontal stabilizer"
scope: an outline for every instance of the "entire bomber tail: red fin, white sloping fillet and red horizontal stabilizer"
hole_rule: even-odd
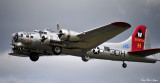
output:
[[[146,26],[139,25],[133,34],[125,41],[108,46],[128,51],[129,54],[148,56],[160,52],[160,48],[151,48],[150,33]]]

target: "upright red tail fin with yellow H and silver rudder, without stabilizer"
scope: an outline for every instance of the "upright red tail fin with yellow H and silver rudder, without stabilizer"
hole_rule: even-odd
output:
[[[150,33],[146,26],[139,25],[132,34],[131,51],[150,49]]]

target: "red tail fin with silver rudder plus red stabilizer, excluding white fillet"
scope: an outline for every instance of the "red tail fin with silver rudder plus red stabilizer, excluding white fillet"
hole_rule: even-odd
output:
[[[150,33],[146,26],[138,26],[132,34],[130,54],[149,56],[160,52],[160,48],[151,48]]]

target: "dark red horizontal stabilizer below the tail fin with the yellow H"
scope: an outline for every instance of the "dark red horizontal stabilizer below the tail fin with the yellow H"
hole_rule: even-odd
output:
[[[129,51],[129,54],[138,55],[138,56],[149,56],[160,52],[160,48],[153,49],[144,49],[141,51]]]

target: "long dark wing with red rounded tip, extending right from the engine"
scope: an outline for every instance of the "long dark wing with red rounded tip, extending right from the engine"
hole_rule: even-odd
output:
[[[88,51],[115,37],[130,27],[131,25],[125,22],[114,22],[100,28],[85,31],[78,35],[81,42],[74,45]]]

